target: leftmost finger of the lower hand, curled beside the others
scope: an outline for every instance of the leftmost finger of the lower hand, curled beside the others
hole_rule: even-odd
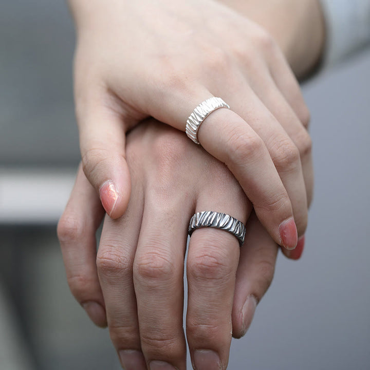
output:
[[[96,269],[95,233],[104,210],[80,165],[75,186],[58,223],[69,288],[96,325],[106,326],[103,294]]]

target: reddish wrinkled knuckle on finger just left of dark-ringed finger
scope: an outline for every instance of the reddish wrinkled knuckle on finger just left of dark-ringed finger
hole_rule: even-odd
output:
[[[158,245],[152,251],[146,252],[134,264],[134,275],[141,282],[168,281],[175,273],[174,265],[168,255],[161,252]]]

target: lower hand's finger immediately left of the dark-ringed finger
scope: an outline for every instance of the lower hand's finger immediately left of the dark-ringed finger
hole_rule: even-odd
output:
[[[190,212],[184,211],[185,197],[157,195],[153,190],[145,199],[134,262],[141,347],[151,370],[185,370],[183,263]]]

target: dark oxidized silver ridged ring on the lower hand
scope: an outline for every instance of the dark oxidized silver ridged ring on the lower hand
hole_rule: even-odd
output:
[[[239,221],[226,213],[213,211],[195,213],[195,215],[190,219],[188,233],[191,236],[194,230],[203,227],[213,227],[228,231],[238,239],[240,246],[242,246],[244,243],[246,233],[244,224],[242,221]]]

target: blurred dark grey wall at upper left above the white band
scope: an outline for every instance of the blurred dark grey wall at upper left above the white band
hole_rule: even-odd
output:
[[[66,1],[0,2],[0,166],[75,165]]]

